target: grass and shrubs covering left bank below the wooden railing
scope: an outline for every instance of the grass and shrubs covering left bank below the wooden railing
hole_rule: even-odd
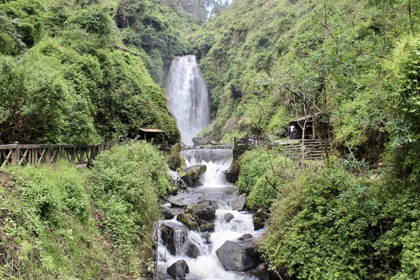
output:
[[[0,171],[0,279],[144,276],[164,162],[140,141],[102,152],[92,170]]]

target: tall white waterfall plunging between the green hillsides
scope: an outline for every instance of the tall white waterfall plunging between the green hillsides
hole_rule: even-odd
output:
[[[166,87],[168,108],[178,122],[181,140],[192,145],[192,138],[210,123],[207,89],[195,55],[178,56],[172,60]]]

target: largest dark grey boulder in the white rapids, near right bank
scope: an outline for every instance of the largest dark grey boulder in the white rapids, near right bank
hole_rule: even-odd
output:
[[[225,270],[247,271],[256,267],[255,259],[234,241],[226,241],[216,250]]]

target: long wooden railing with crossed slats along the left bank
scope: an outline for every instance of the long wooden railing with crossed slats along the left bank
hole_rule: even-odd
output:
[[[114,147],[116,142],[93,145],[0,145],[0,167],[5,165],[53,165],[58,162],[70,162],[76,165],[92,162],[102,151]]]

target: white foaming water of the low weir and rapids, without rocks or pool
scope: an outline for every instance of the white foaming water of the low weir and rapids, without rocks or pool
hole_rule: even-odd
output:
[[[183,194],[205,194],[206,188],[213,188],[220,190],[223,194],[226,188],[232,188],[232,184],[226,182],[224,171],[229,167],[232,161],[232,151],[230,149],[189,149],[181,152],[185,159],[186,165],[201,165],[207,166],[207,171],[202,176],[203,186],[190,188],[188,193]],[[238,194],[239,195],[239,194]],[[186,197],[187,199],[187,197]],[[168,204],[165,204],[168,205]],[[260,236],[264,230],[254,230],[252,222],[252,214],[242,213],[232,210],[232,207],[225,200],[218,200],[215,204],[216,219],[214,220],[215,232],[210,233],[210,244],[200,236],[200,233],[192,230],[185,235],[176,232],[176,256],[169,254],[166,247],[161,242],[159,237],[159,261],[158,272],[165,274],[166,268],[177,260],[184,259],[189,266],[190,273],[187,274],[186,279],[189,280],[250,280],[256,279],[250,275],[244,275],[237,272],[225,271],[222,263],[216,255],[216,250],[225,243],[225,241],[238,241],[244,233],[251,233],[252,236]],[[226,213],[231,213],[234,218],[230,222],[223,220]],[[176,221],[176,216],[170,222],[181,224]],[[186,244],[192,242],[199,248],[199,256],[197,259],[186,256]]]

